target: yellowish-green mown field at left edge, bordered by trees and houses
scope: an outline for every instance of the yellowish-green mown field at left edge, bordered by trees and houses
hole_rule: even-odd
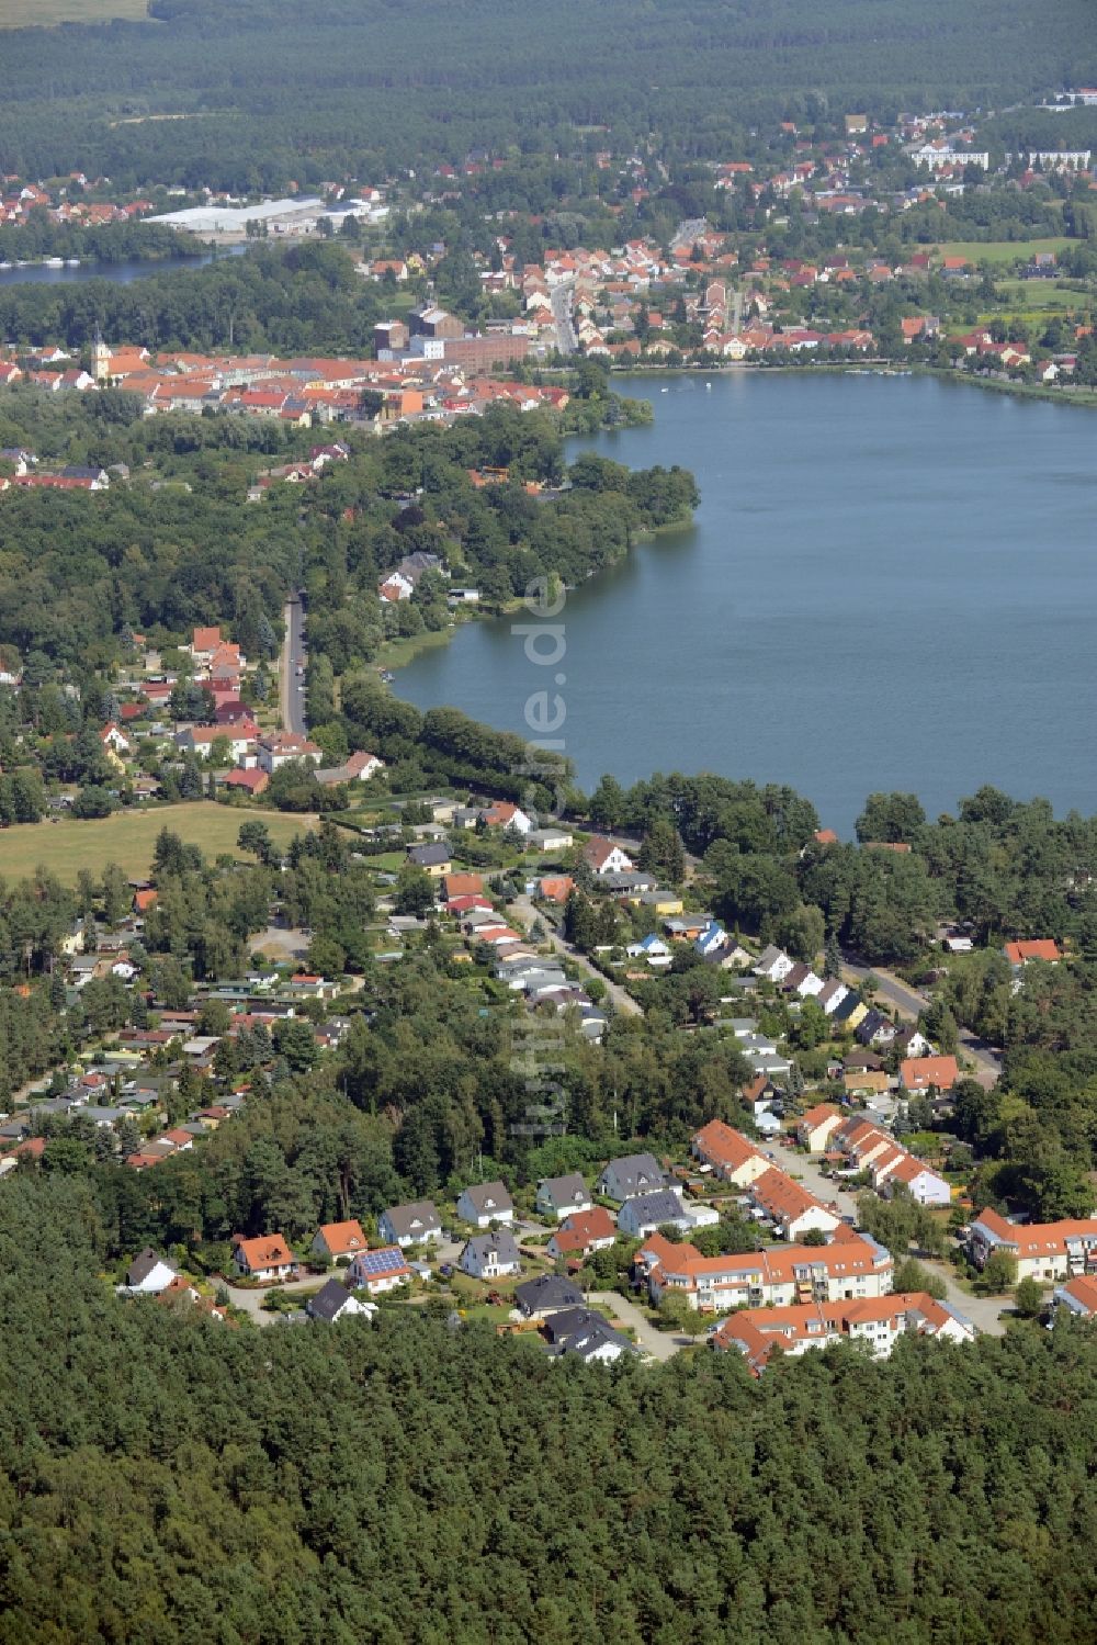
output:
[[[153,811],[118,811],[102,821],[25,822],[0,831],[0,878],[21,880],[38,867],[49,869],[66,885],[74,885],[81,869],[102,873],[109,862],[118,862],[132,878],[148,873],[153,846],[161,827],[179,834],[187,846],[201,846],[207,857],[237,850],[240,824],[266,822],[271,839],[285,846],[316,818],[283,811],[219,806],[194,799]]]

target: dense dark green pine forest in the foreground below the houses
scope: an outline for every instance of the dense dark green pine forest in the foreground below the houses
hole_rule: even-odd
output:
[[[102,1255],[84,1183],[5,1184],[3,1645],[1092,1638],[1084,1328],[752,1383],[426,1311],[260,1337]]]

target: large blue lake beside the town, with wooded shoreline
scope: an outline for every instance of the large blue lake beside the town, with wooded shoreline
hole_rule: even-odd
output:
[[[567,597],[559,732],[579,781],[791,783],[852,832],[872,790],[933,818],[995,783],[1097,811],[1097,416],[929,377],[729,372],[628,393],[651,428],[572,441],[674,462],[694,525]],[[525,730],[553,681],[511,622],[396,676]]]

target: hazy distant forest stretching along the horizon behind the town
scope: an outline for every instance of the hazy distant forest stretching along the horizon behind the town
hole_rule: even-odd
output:
[[[153,0],[148,23],[5,36],[0,169],[281,189],[584,130],[712,155],[757,120],[1002,107],[1097,79],[1084,0]],[[1089,61],[1087,61],[1089,51]],[[186,118],[148,122],[148,115]],[[594,128],[594,130],[590,130]]]

